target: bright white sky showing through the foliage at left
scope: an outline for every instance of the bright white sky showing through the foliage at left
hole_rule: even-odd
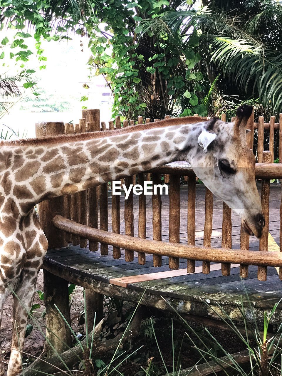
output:
[[[3,30],[0,33],[1,40],[8,36],[9,40],[12,41],[14,31]],[[38,83],[38,92],[40,88],[44,88],[47,94],[52,94],[58,102],[70,102],[68,111],[64,112],[30,112],[21,111],[22,106],[30,106],[32,102],[24,103],[19,101],[14,105],[9,114],[4,115],[0,119],[0,132],[1,124],[6,124],[14,130],[20,130],[20,135],[23,133],[24,129],[28,130],[28,136],[35,135],[35,122],[36,121],[64,121],[69,122],[73,120],[75,123],[78,122],[81,117],[81,108],[83,105],[88,108],[100,108],[101,111],[101,121],[106,121],[106,123],[111,120],[111,104],[109,101],[112,100],[109,96],[103,96],[102,92],[109,92],[108,88],[105,88],[105,79],[100,77],[92,77],[89,82],[88,75],[89,70],[87,67],[87,61],[90,56],[90,51],[87,48],[87,39],[81,37],[77,34],[72,34],[72,41],[67,41],[63,39],[62,41],[43,41],[42,48],[44,49],[44,56],[47,57],[47,61],[41,64],[46,64],[46,69],[39,71],[39,62],[36,56],[32,56],[30,62],[26,64],[26,68],[35,69],[35,78]],[[28,38],[28,45],[32,47],[34,45],[34,39]],[[80,45],[83,42],[84,45]],[[7,46],[8,47],[8,46]],[[17,52],[14,49],[14,53]],[[34,49],[35,50],[35,49]],[[7,48],[5,57],[9,56],[11,49]],[[9,59],[4,59],[6,62],[5,67],[1,67],[1,74],[8,72],[12,74],[14,72],[14,61]],[[3,60],[2,60],[3,61]],[[10,68],[7,68],[7,65]],[[87,83],[89,85],[89,90],[83,88],[83,84]],[[26,89],[23,93],[24,96],[30,96],[30,89]],[[80,98],[86,96],[89,98],[86,102],[80,102]],[[34,98],[33,98],[34,97]],[[43,97],[43,94],[42,94]],[[42,98],[41,97],[41,98]],[[35,102],[40,101],[40,96],[36,99],[32,95],[32,100]],[[39,111],[38,108],[32,111]],[[4,127],[5,129],[5,127]]]

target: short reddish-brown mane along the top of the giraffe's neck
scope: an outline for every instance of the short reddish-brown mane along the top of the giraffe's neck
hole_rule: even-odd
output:
[[[124,133],[138,132],[140,130],[167,127],[180,124],[194,124],[207,121],[198,116],[186,116],[180,118],[170,118],[166,120],[156,121],[155,123],[136,124],[129,127],[104,130],[87,133],[67,134],[58,136],[47,136],[42,138],[20,138],[12,141],[0,141],[0,146],[43,146],[43,145],[59,145],[64,143],[73,143],[79,141],[86,141],[94,138],[103,138],[122,135]]]

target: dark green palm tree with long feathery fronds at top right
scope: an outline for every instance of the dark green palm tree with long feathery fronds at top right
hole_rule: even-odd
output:
[[[224,99],[257,98],[274,112],[282,112],[282,2],[276,0],[203,0],[203,8],[168,11],[147,20],[157,35],[169,29],[182,37],[183,48],[193,28],[201,30],[198,50],[210,84]],[[199,34],[199,31],[198,31]],[[217,108],[215,109],[217,110]]]

